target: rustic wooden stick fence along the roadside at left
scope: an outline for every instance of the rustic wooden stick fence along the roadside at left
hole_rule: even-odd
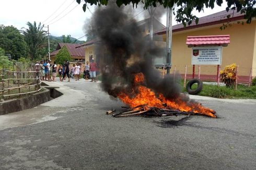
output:
[[[10,99],[11,96],[21,97],[41,89],[39,71],[0,70],[0,98],[2,99]]]

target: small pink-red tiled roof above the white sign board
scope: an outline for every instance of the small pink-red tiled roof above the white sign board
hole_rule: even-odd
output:
[[[186,44],[194,45],[223,45],[230,43],[229,35],[204,35],[204,36],[189,36]]]

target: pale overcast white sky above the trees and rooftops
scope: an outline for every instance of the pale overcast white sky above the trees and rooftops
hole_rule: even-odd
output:
[[[94,12],[94,6],[89,6],[90,11],[86,10],[85,13],[82,6],[83,2],[78,5],[75,0],[0,0],[0,25],[13,25],[21,29],[26,27],[28,21],[42,22],[44,26],[49,25],[50,33],[54,36],[70,34],[78,39],[85,34],[83,27],[85,21],[92,16],[90,11]],[[138,20],[143,19],[143,13],[147,13],[147,11],[140,13],[140,10],[134,10],[135,15],[139,13],[136,16]],[[216,7],[214,10],[205,9],[204,13],[195,14],[202,17],[221,10],[225,10],[225,6]],[[166,17],[163,16],[160,21],[166,25]],[[86,40],[86,38],[79,40]]]

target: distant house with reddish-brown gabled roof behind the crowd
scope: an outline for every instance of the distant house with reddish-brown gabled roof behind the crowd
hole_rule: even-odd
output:
[[[55,56],[59,53],[61,48],[63,46],[67,47],[67,50],[69,54],[71,55],[71,62],[76,62],[76,61],[84,61],[85,60],[85,48],[80,48],[77,47],[80,44],[74,44],[74,43],[59,43],[56,47],[56,50],[51,53],[51,60],[52,63],[55,60]]]

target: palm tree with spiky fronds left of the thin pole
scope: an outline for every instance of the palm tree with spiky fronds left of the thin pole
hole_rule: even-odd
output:
[[[22,28],[21,33],[24,35],[25,41],[28,44],[29,55],[31,59],[36,59],[39,57],[39,51],[46,44],[46,34],[47,31],[43,30],[41,22],[37,26],[36,21],[34,23],[27,22],[28,28]]]

